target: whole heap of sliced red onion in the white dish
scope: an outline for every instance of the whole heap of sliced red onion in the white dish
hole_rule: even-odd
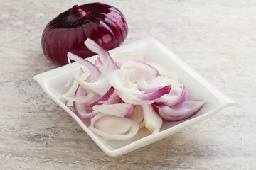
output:
[[[120,68],[109,52],[93,40],[87,39],[85,45],[99,57],[94,65],[68,53],[69,63],[70,59],[80,62],[91,74],[85,79],[84,74],[75,75],[72,70],[79,85],[76,84],[75,97],[68,98],[65,105],[74,108],[80,118],[91,118],[89,128],[95,134],[110,140],[127,140],[143,127],[156,133],[162,118],[183,120],[203,107],[205,101],[187,101],[185,86],[175,76],[172,79],[163,67],[130,60],[134,57],[130,56],[128,61],[120,59],[125,60],[119,63]]]

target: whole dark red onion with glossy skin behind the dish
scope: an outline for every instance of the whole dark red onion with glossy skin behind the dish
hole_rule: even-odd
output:
[[[119,47],[127,37],[127,22],[117,8],[91,3],[73,6],[54,18],[43,30],[44,55],[60,65],[68,64],[67,52],[82,58],[95,55],[84,45],[90,38],[106,50]]]

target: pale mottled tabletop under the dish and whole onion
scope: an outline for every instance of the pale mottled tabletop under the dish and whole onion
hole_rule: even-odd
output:
[[[126,16],[124,45],[156,38],[236,105],[164,140],[108,157],[33,80],[58,67],[41,50],[43,28],[85,1],[1,0],[0,169],[255,169],[256,2],[102,2]]]

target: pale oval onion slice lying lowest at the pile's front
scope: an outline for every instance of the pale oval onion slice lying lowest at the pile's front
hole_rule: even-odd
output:
[[[100,114],[100,113],[99,113]],[[98,118],[95,120],[95,118]],[[132,119],[114,115],[99,115],[92,118],[89,129],[109,140],[128,140],[137,134],[139,125]]]

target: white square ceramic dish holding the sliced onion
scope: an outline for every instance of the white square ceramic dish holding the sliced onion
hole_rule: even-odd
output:
[[[40,84],[43,91],[45,91],[46,94],[55,101],[55,103],[68,112],[81,126],[81,128],[87,132],[87,135],[89,135],[106,154],[112,157],[131,152],[134,149],[138,149],[149,145],[152,142],[156,142],[157,140],[161,140],[164,137],[183,130],[183,128],[187,128],[201,122],[202,120],[206,120],[223,108],[234,105],[234,102],[228,98],[228,96],[225,96],[221,91],[210,85],[206,79],[188,67],[188,65],[182,62],[181,59],[174,55],[173,52],[154,38],[146,38],[144,40],[133,42],[129,45],[117,47],[114,50],[110,50],[110,55],[113,56],[116,52],[133,52],[136,55],[143,55],[145,62],[155,62],[156,64],[160,64],[166,69],[169,69],[169,71],[176,72],[176,74],[178,74],[179,81],[186,86],[189,96],[188,98],[198,100],[204,99],[206,100],[206,104],[200,112],[187,120],[178,122],[164,121],[160,132],[153,135],[143,128],[142,130],[139,130],[138,134],[131,140],[110,140],[106,142],[88,129],[90,120],[78,118],[70,108],[65,106],[65,102],[60,100],[58,96],[55,96],[55,94],[53,94],[49,89],[52,88],[60,94],[65,92],[64,84],[66,84],[70,77],[70,67],[68,65],[58,67],[57,69],[53,69],[33,77],[38,84]],[[96,57],[97,56],[93,56],[87,60],[94,62]],[[73,68],[77,69],[81,66],[76,62],[72,65]]]

